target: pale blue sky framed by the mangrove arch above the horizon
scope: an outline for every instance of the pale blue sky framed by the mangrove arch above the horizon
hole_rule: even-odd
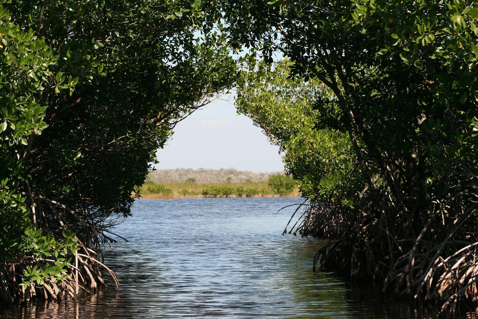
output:
[[[173,137],[157,151],[155,167],[276,172],[284,167],[278,151],[247,116],[236,113],[232,101],[216,100],[176,125]]]

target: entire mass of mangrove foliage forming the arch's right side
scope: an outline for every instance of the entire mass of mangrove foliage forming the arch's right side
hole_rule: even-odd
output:
[[[239,110],[288,153],[307,197],[351,205],[395,169],[399,193],[423,193],[420,176],[444,194],[478,173],[476,2],[228,5],[232,41],[260,48],[266,64],[244,74]],[[287,71],[271,70],[276,50]]]

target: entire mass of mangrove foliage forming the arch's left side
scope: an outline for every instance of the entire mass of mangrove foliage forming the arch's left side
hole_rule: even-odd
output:
[[[236,62],[210,3],[0,3],[0,262],[52,254],[27,270],[40,284],[75,250],[54,209],[98,247],[175,124],[233,86]]]

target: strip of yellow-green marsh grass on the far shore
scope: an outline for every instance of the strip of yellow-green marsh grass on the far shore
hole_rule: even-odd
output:
[[[267,182],[257,183],[161,183],[147,181],[142,198],[279,197]],[[297,187],[283,196],[300,196]]]

